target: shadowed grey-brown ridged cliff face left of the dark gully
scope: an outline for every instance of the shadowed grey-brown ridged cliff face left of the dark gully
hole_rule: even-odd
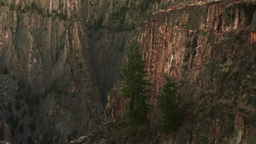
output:
[[[5,1],[0,6],[0,68],[6,67],[9,76],[31,88],[30,97],[40,98],[31,118],[37,123],[33,141],[66,143],[94,128],[103,113],[92,79],[85,25],[79,21],[80,1],[36,1],[36,10],[31,2]],[[27,109],[24,105],[22,111]],[[28,120],[19,118],[27,127]],[[32,135],[29,129],[28,135]],[[26,143],[25,136],[14,136],[13,142]]]

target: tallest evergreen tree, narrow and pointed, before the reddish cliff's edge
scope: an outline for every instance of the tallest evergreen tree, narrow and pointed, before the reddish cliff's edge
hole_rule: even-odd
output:
[[[148,121],[149,111],[148,94],[151,83],[145,79],[148,72],[145,61],[139,51],[139,43],[133,42],[129,47],[127,62],[124,68],[123,96],[129,99],[127,117],[130,124],[139,125]]]

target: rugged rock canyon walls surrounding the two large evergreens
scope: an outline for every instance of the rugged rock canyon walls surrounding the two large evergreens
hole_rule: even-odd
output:
[[[256,2],[143,2],[1,1],[0,123],[11,143],[256,142]],[[130,133],[120,90],[132,40],[153,108],[149,126]],[[172,133],[156,129],[165,77],[177,81],[185,116]],[[136,139],[140,129],[148,133]]]

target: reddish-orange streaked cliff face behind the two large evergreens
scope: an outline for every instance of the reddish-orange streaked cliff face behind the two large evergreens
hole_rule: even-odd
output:
[[[255,2],[191,4],[155,13],[138,32],[152,104],[165,76],[182,88],[186,120],[162,143],[255,143],[255,10]],[[109,94],[112,117],[125,111],[118,86]],[[150,117],[157,122],[157,111]]]

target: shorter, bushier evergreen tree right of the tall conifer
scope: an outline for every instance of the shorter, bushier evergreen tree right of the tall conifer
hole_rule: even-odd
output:
[[[158,97],[158,108],[162,113],[162,130],[175,130],[183,122],[183,113],[179,109],[180,100],[177,96],[176,83],[167,77],[162,93]]]

